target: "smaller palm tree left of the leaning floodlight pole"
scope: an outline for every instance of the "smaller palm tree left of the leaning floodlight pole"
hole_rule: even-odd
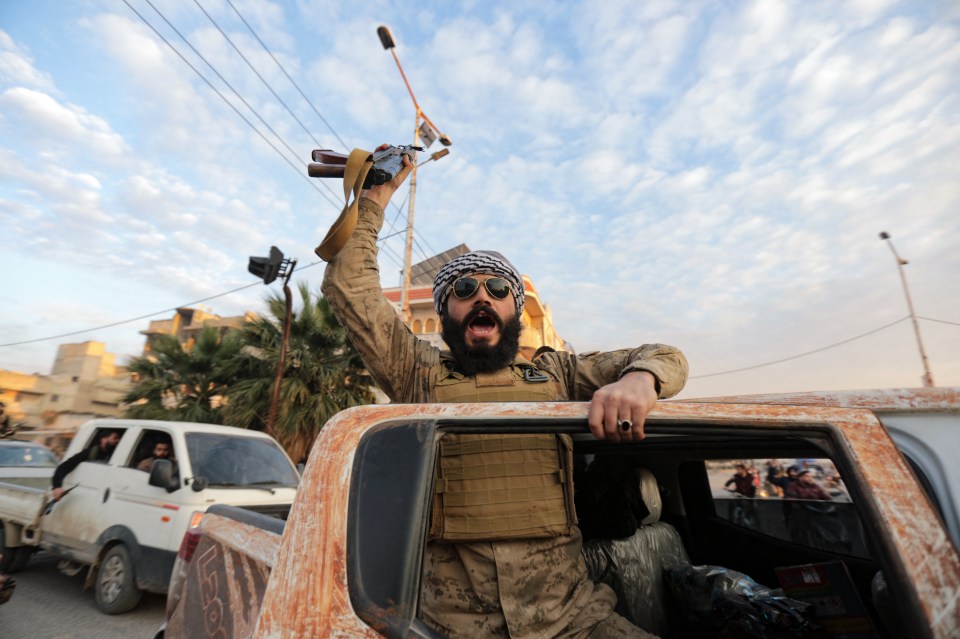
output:
[[[149,355],[133,358],[127,367],[137,383],[124,397],[126,416],[222,424],[217,398],[233,380],[229,365],[242,343],[215,328],[200,331],[189,349],[173,335],[161,335]]]

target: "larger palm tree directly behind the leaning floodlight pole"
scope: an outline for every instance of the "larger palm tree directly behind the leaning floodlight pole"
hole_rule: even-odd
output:
[[[286,366],[280,386],[274,436],[294,460],[306,459],[317,433],[330,417],[350,406],[373,402],[370,377],[326,299],[297,285]],[[248,322],[239,331],[244,346],[228,374],[238,381],[227,389],[226,423],[263,430],[276,376],[283,318],[283,297],[267,299],[273,317]]]

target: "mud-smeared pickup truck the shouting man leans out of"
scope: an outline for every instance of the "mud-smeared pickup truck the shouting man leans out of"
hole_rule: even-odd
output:
[[[585,503],[579,484],[576,503],[588,571],[616,591],[618,612],[650,632],[724,631],[723,619],[710,618],[719,608],[684,600],[696,578],[683,575],[712,567],[782,588],[825,636],[960,636],[955,540],[878,419],[945,424],[956,443],[957,390],[858,397],[869,408],[812,396],[663,402],[635,444],[593,439],[581,403],[346,410],[318,437],[285,525],[224,506],[187,531],[158,636],[441,636],[418,615],[438,442],[505,431],[570,435],[581,473],[625,465],[637,473],[648,513],[632,534],[605,536],[594,518],[611,507]],[[731,498],[736,467],[752,464],[802,466],[804,481],[829,496],[764,495],[758,477],[753,497]],[[717,624],[712,634],[690,627],[694,613]]]

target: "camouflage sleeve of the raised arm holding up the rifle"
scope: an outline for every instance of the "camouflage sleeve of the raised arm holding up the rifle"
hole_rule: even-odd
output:
[[[361,198],[357,227],[324,272],[321,290],[380,389],[395,402],[425,401],[420,364],[439,351],[417,339],[383,296],[377,264],[377,234],[383,209]]]

